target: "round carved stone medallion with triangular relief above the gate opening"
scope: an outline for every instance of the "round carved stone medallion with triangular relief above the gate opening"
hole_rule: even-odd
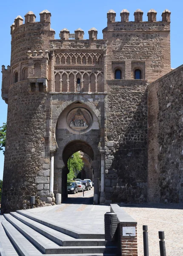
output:
[[[74,131],[84,131],[89,128],[92,116],[85,108],[74,108],[68,114],[68,125]]]

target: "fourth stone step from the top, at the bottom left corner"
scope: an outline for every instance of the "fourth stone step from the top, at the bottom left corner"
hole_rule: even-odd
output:
[[[17,252],[21,256],[40,256],[43,255],[37,248],[31,244],[15,227],[6,220],[2,221],[2,226],[6,231],[9,240],[16,248]],[[6,254],[11,256],[11,254]]]

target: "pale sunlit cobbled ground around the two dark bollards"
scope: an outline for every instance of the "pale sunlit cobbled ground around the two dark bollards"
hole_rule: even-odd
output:
[[[138,256],[143,256],[143,225],[148,225],[149,256],[160,256],[160,230],[165,232],[166,255],[183,255],[183,204],[120,206],[137,221]]]

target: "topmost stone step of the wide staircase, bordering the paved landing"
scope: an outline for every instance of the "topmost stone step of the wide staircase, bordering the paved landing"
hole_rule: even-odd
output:
[[[35,215],[25,210],[18,210],[17,213],[76,239],[104,239],[105,238],[105,235],[103,233],[101,234],[83,233],[83,230],[81,230],[79,227],[77,231],[71,230],[70,227],[69,228],[67,226],[63,227],[59,224],[56,225],[55,222],[51,221],[49,218],[45,218],[43,216],[40,217],[39,215]]]

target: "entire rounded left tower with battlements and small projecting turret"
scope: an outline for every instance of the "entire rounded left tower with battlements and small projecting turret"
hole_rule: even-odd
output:
[[[3,67],[3,81],[8,81],[2,91],[8,102],[3,213],[29,208],[31,196],[41,204],[40,197],[46,199],[49,195],[50,160],[49,153],[46,154],[49,142],[45,124],[49,119],[48,50],[49,41],[54,39],[50,17],[51,13],[44,10],[40,22],[35,22],[34,13],[28,12],[25,23],[17,16],[11,26],[11,66],[7,70]],[[37,176],[42,180],[37,180]]]

